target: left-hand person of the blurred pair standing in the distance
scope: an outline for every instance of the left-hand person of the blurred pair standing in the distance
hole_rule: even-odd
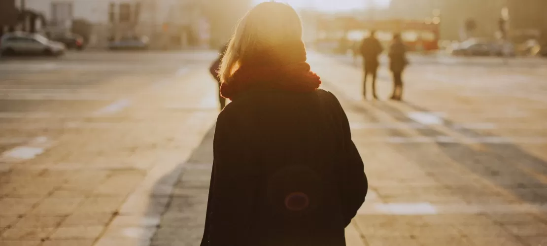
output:
[[[370,36],[363,39],[361,44],[361,55],[363,56],[363,68],[365,72],[365,79],[363,81],[363,97],[366,99],[366,78],[371,75],[373,77],[373,97],[376,96],[376,72],[380,66],[378,56],[382,54],[383,48],[380,41],[376,39],[376,31],[370,31]]]

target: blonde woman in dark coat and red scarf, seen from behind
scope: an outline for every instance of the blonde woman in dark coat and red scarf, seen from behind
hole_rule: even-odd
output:
[[[230,40],[220,92],[232,102],[217,119],[202,246],[345,245],[363,162],[301,37],[296,11],[266,2]]]

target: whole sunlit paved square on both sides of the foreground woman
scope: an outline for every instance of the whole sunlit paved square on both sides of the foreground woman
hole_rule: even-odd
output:
[[[369,179],[348,246],[547,246],[547,60],[412,56],[393,102],[385,61],[365,101],[359,62],[310,53]],[[214,58],[1,57],[0,246],[199,245]]]

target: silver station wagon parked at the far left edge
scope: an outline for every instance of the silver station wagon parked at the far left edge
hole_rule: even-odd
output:
[[[48,55],[65,53],[64,44],[49,40],[36,33],[7,33],[0,39],[2,55]]]

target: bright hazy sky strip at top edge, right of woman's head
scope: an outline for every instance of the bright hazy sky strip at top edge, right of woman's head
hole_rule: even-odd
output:
[[[255,3],[267,2],[269,0],[254,0]],[[391,0],[276,0],[276,2],[288,3],[294,8],[315,7],[323,11],[344,11],[366,8],[371,2],[378,7],[387,7]]]

